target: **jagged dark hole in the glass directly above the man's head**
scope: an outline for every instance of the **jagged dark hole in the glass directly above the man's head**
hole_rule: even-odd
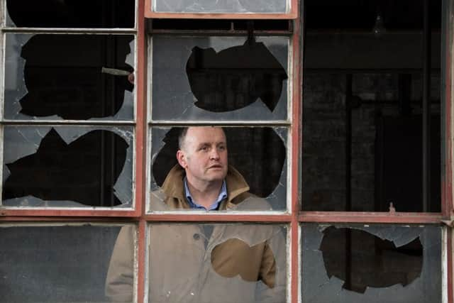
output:
[[[274,111],[287,79],[276,57],[253,39],[218,53],[196,46],[186,72],[197,100],[194,105],[214,112],[241,109],[258,99]]]

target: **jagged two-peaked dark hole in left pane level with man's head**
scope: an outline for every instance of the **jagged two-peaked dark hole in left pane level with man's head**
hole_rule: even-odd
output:
[[[9,143],[18,142],[17,136],[26,139],[25,145],[34,144],[21,131]],[[38,143],[35,153],[5,164],[10,174],[3,184],[4,204],[9,205],[5,200],[13,199],[14,203],[15,198],[28,196],[62,204],[122,204],[114,186],[126,162],[128,143],[124,138],[112,131],[95,130],[67,143],[50,128]]]

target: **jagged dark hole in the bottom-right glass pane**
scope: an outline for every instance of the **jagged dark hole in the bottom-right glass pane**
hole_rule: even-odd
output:
[[[421,275],[423,246],[419,238],[397,246],[366,231],[328,227],[320,250],[328,277],[343,288],[364,293],[367,287],[409,285]]]

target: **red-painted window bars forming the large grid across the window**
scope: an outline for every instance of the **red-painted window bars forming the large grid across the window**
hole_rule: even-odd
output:
[[[453,11],[453,0],[450,1],[450,10]],[[292,35],[292,45],[294,54],[292,65],[292,124],[291,141],[292,141],[292,169],[291,183],[289,184],[289,192],[291,192],[291,209],[289,212],[279,215],[274,214],[146,214],[145,212],[145,191],[148,187],[145,183],[146,166],[145,159],[146,142],[147,142],[147,62],[148,58],[148,45],[147,33],[145,31],[145,18],[159,17],[159,18],[246,18],[246,16],[234,14],[218,14],[216,16],[205,14],[172,14],[172,16],[163,16],[162,14],[153,14],[148,11],[149,7],[145,4],[148,1],[138,0],[138,14],[136,21],[137,28],[137,56],[138,65],[135,70],[135,81],[137,87],[137,102],[136,102],[136,122],[135,122],[135,209],[128,211],[112,210],[71,210],[71,209],[0,209],[0,221],[21,222],[21,221],[87,221],[87,222],[128,222],[135,223],[138,226],[138,289],[137,297],[138,303],[144,303],[145,297],[145,247],[146,247],[146,229],[148,224],[152,222],[166,221],[166,222],[272,222],[276,224],[288,224],[290,228],[290,236],[292,238],[289,243],[289,273],[291,275],[290,294],[291,299],[289,302],[297,303],[300,298],[300,284],[301,275],[299,264],[300,255],[300,240],[299,240],[299,227],[306,222],[316,223],[367,223],[367,224],[441,224],[441,221],[449,221],[453,219],[453,142],[447,140],[445,142],[445,175],[442,176],[442,212],[441,213],[399,213],[394,214],[382,212],[341,212],[341,211],[301,211],[301,195],[300,191],[300,170],[299,167],[304,165],[301,163],[301,150],[302,138],[302,123],[301,111],[302,102],[304,101],[302,92],[302,77],[303,67],[302,60],[302,45],[303,41],[303,23],[301,16],[298,13],[300,1],[292,0],[292,14],[281,14],[279,16],[266,15],[267,18],[287,18],[294,19],[294,33]],[[296,9],[297,11],[293,11]],[[247,18],[264,18],[258,14],[247,16]],[[453,121],[451,112],[453,111],[453,20],[449,21],[449,28],[446,33],[446,57],[445,65],[447,73],[445,75],[445,138],[452,138]],[[302,202],[304,203],[304,202]],[[453,231],[448,228],[447,239],[447,260],[443,264],[447,272],[447,287],[448,287],[448,303],[453,301]]]

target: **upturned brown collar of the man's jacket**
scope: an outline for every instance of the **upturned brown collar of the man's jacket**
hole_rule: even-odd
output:
[[[172,197],[174,199],[177,199],[179,204],[177,208],[188,207],[186,198],[184,197],[183,184],[184,175],[185,175],[184,169],[178,164],[175,165],[174,167],[172,167],[172,170],[170,170],[170,172],[168,173],[161,187],[162,191],[168,198]],[[240,194],[249,191],[248,183],[244,180],[240,172],[238,172],[238,170],[236,170],[236,168],[231,165],[228,165],[226,183],[227,183],[227,199],[225,204],[221,203],[221,209],[231,209],[235,207],[236,204],[234,204],[232,200],[238,197]]]

